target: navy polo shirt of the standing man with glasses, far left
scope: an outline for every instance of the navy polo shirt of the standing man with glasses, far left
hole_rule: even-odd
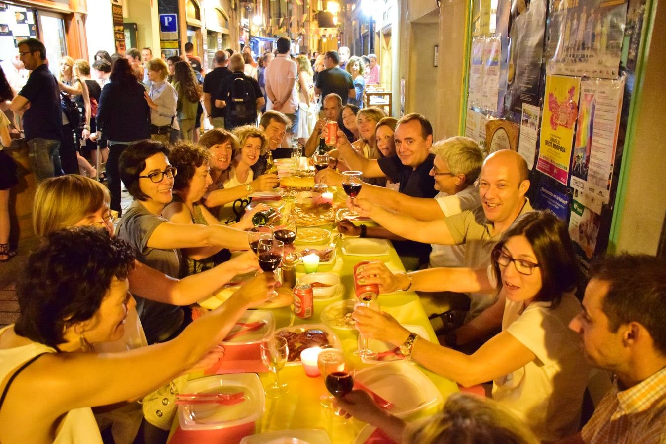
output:
[[[33,69],[19,95],[30,101],[23,114],[25,140],[31,138],[63,139],[63,114],[60,91],[46,63]]]

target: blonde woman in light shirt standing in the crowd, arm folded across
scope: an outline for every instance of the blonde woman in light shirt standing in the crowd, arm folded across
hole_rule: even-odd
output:
[[[151,138],[168,143],[171,130],[178,129],[176,104],[178,93],[166,81],[168,67],[162,59],[152,59],[146,64],[148,79],[153,82],[150,93],[144,93],[148,106],[151,108]]]

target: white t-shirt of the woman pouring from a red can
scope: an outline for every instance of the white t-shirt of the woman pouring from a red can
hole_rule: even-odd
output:
[[[533,302],[506,301],[502,331],[525,345],[536,358],[500,377],[493,398],[516,413],[542,441],[557,441],[575,433],[580,421],[589,365],[577,333],[569,322],[581,309],[571,293],[556,308]]]

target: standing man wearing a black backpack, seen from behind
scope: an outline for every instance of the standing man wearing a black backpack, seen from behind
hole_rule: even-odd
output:
[[[256,111],[266,103],[259,84],[244,75],[245,62],[240,53],[231,56],[229,69],[232,73],[220,82],[215,99],[215,106],[224,108],[224,127],[233,130],[242,125],[256,125]]]

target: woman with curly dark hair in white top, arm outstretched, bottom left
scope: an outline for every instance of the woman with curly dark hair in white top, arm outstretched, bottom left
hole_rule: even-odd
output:
[[[256,276],[166,343],[95,353],[123,337],[134,263],[127,242],[92,227],[54,232],[31,254],[17,283],[21,315],[0,330],[0,441],[101,443],[91,407],[136,399],[192,367],[273,282]]]

